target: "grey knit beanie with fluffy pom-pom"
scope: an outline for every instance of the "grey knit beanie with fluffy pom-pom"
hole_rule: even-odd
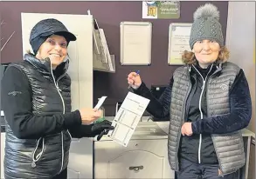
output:
[[[216,41],[220,47],[224,45],[224,39],[219,20],[219,11],[216,6],[206,3],[194,12],[194,23],[190,31],[190,48],[201,40]]]

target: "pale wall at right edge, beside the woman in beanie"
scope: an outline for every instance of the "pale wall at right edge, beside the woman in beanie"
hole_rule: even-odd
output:
[[[253,117],[248,129],[255,133],[255,2],[229,2],[226,46],[230,61],[245,70],[253,103]],[[255,56],[254,56],[255,59]],[[255,179],[255,147],[252,147],[248,179]]]

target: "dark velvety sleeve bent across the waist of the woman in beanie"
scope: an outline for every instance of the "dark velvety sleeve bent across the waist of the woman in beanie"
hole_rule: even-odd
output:
[[[230,91],[231,110],[227,115],[211,116],[192,123],[193,134],[225,134],[244,129],[252,117],[250,89],[243,70],[239,71]]]

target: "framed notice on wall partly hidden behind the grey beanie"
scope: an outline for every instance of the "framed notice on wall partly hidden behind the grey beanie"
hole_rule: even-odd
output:
[[[170,23],[168,64],[183,65],[184,50],[190,50],[190,30],[192,23]]]

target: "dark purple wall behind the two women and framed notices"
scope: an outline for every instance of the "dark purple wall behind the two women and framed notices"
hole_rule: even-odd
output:
[[[1,36],[7,38],[13,30],[15,35],[2,51],[1,63],[22,60],[21,12],[86,14],[89,9],[104,29],[111,54],[115,55],[116,73],[94,72],[94,94],[97,99],[107,97],[107,115],[114,115],[114,103],[122,101],[128,93],[127,75],[132,70],[141,70],[143,81],[151,84],[167,84],[177,66],[169,66],[168,30],[170,23],[192,23],[193,12],[206,2],[181,2],[179,19],[151,20],[142,19],[142,2],[1,2],[0,13],[6,22]],[[223,26],[224,38],[227,22],[228,2],[209,2],[218,6],[220,23]],[[0,20],[0,22],[2,22]],[[121,66],[120,56],[120,23],[121,21],[149,21],[153,24],[152,64],[150,66]],[[77,22],[80,23],[80,22]],[[97,100],[95,100],[97,102]]]

